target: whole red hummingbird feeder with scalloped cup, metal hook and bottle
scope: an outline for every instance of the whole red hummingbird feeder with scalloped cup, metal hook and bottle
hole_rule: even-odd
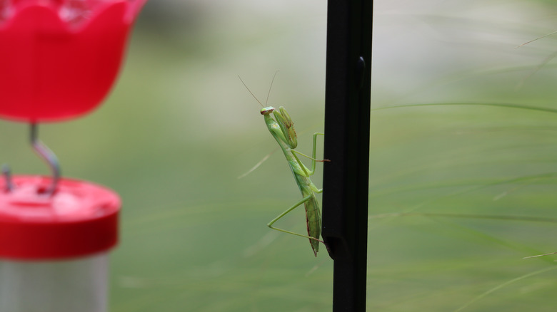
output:
[[[0,312],[102,312],[118,194],[62,178],[39,123],[91,112],[146,0],[0,0],[0,118],[29,123],[51,177],[0,178]]]

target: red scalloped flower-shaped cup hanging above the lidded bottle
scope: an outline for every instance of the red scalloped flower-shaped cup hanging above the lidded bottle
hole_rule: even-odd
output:
[[[146,0],[0,0],[0,118],[75,118],[101,103]]]

